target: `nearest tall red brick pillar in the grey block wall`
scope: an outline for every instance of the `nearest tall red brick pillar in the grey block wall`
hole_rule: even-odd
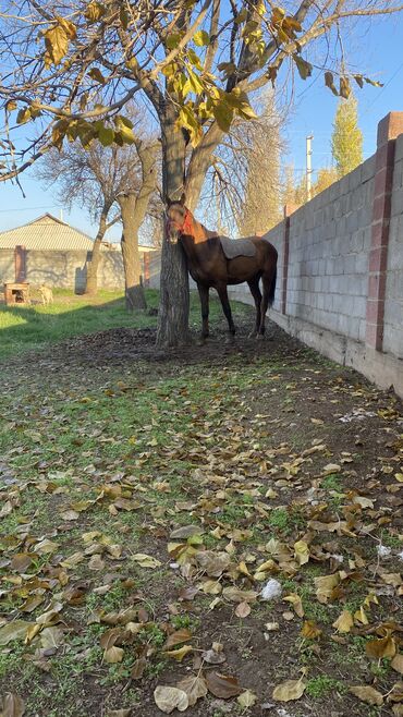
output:
[[[377,351],[382,351],[383,345],[384,292],[387,285],[394,145],[395,138],[402,133],[403,112],[389,112],[378,124],[365,337],[366,343]]]

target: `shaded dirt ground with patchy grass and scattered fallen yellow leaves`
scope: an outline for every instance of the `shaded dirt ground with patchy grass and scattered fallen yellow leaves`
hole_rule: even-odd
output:
[[[5,716],[403,715],[402,404],[249,323],[4,366]]]

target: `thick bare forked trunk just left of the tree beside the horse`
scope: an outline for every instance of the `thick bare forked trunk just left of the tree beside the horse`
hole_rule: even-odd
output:
[[[156,147],[137,143],[142,162],[143,183],[136,195],[134,192],[120,194],[117,199],[122,215],[122,255],[125,279],[127,311],[147,308],[142,282],[142,263],[138,252],[138,230],[147,214],[151,194],[156,187]]]

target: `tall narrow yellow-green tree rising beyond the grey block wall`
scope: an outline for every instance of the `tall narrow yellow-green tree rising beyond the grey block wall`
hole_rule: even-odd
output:
[[[357,100],[340,100],[333,122],[331,150],[339,179],[363,161],[363,133],[358,127]]]

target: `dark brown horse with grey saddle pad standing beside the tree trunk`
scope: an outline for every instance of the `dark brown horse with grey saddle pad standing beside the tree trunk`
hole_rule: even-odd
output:
[[[167,235],[172,243],[178,242],[180,239],[187,257],[190,274],[197,283],[202,303],[202,337],[204,339],[208,337],[208,303],[209,289],[211,288],[216,289],[220,297],[231,335],[235,335],[227,287],[243,283],[244,281],[247,281],[249,285],[256,306],[256,324],[252,336],[262,337],[266,312],[274,299],[276,248],[264,239],[251,236],[246,242],[248,255],[229,259],[221,244],[221,238],[217,232],[208,231],[194,218],[185,206],[184,195],[182,195],[180,202],[167,202]],[[231,242],[227,239],[228,242],[231,244],[230,250],[232,245],[235,246],[236,253],[236,240]],[[233,250],[232,253],[234,253]],[[259,289],[260,279],[262,295]]]

